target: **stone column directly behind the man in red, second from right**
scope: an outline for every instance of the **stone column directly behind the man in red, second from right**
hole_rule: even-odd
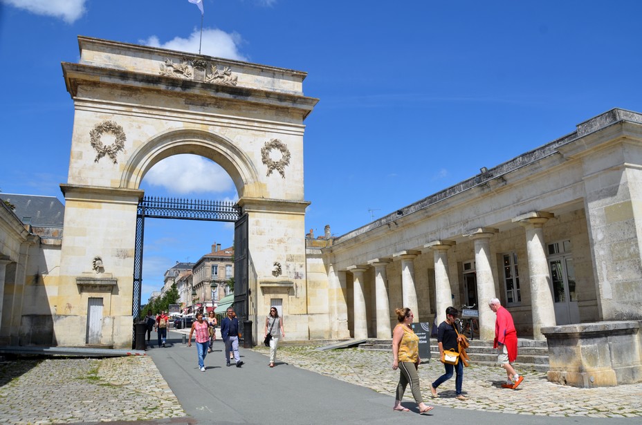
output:
[[[479,227],[469,232],[475,240],[475,275],[477,277],[477,303],[479,303],[479,338],[483,341],[495,339],[495,313],[488,308],[488,301],[496,298],[495,278],[490,267],[490,238],[497,229]]]

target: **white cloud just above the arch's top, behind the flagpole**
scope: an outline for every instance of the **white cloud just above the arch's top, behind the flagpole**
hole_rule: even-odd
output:
[[[199,53],[199,39],[201,37],[201,30],[198,28],[192,32],[190,37],[181,38],[175,37],[166,43],[160,43],[156,35],[152,35],[146,40],[140,40],[141,44],[152,47],[168,48],[171,50],[178,50],[181,52]],[[217,29],[203,29],[203,43],[201,44],[201,54],[225,57],[226,59],[236,59],[239,61],[247,61],[248,59],[239,53],[239,45],[243,43],[241,35],[237,32],[231,34]]]

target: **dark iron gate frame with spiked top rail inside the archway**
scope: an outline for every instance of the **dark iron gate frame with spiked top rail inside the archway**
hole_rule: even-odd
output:
[[[136,252],[134,253],[134,301],[131,306],[131,314],[134,320],[140,316],[140,296],[143,292],[143,236],[145,230],[145,218],[176,218],[179,220],[203,220],[203,221],[241,221],[241,207],[231,201],[218,200],[190,200],[176,198],[158,198],[143,197],[138,202],[138,211],[136,213]],[[245,223],[247,223],[247,214]],[[235,249],[245,252],[247,258],[248,238],[247,224],[246,236],[241,243],[236,239],[235,231]],[[235,274],[238,272],[247,279],[247,261],[245,272],[237,271],[235,263]],[[235,276],[235,283],[239,278]],[[235,285],[236,286],[236,285]],[[236,291],[235,291],[236,292]],[[134,337],[132,337],[134,341]]]

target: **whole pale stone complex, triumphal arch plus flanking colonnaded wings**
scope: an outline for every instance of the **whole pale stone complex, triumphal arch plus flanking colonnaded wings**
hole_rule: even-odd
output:
[[[432,323],[448,305],[475,304],[490,340],[497,297],[520,337],[551,348],[598,335],[597,349],[558,345],[609,357],[612,382],[626,381],[622,361],[642,381],[642,114],[612,109],[348,234],[314,238],[304,236],[303,122],[318,100],[303,94],[305,73],[79,44],[80,61],[62,64],[75,110],[62,239],[0,207],[0,344],[131,346],[145,217],[181,209],[145,198],[140,182],[156,162],[194,153],[226,169],[239,194],[236,205],[182,208],[236,223],[235,308],[254,341],[273,304],[291,340],[389,339],[397,306]],[[632,363],[608,351],[613,338],[634,349]]]

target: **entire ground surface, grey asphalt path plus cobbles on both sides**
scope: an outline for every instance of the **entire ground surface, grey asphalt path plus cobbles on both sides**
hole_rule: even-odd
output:
[[[167,348],[154,344],[143,357],[0,363],[0,424],[389,424],[399,419],[406,425],[426,420],[632,425],[642,417],[642,384],[572,388],[551,384],[542,373],[520,371],[522,386],[506,390],[499,386],[503,370],[487,366],[466,368],[468,401],[454,398],[454,378],[438,389],[441,397],[431,399],[430,382],[443,371],[435,361],[419,368],[425,402],[435,406],[432,417],[417,414],[410,389],[403,404],[411,411],[394,413],[398,371],[391,368],[389,352],[282,346],[276,367],[268,368],[268,348],[261,346],[241,348],[244,366],[228,368],[219,339],[201,372],[196,348],[183,346],[183,332],[188,330],[170,331]]]

